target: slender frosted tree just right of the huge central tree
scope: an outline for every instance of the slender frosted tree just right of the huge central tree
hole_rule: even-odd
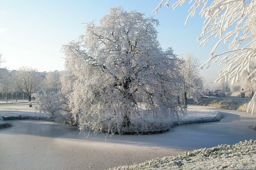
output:
[[[183,62],[180,64],[180,74],[183,78],[183,96],[184,104],[187,105],[187,97],[193,97],[197,100],[200,92],[203,90],[203,78],[199,73],[200,62],[194,54],[188,52],[186,56],[182,55]]]

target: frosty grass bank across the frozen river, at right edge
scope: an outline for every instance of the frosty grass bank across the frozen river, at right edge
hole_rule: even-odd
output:
[[[200,99],[196,104],[246,112],[249,102],[243,99]]]

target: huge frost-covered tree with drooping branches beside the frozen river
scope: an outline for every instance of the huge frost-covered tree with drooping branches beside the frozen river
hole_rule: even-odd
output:
[[[62,90],[71,89],[81,132],[142,133],[180,118],[178,59],[160,48],[157,25],[137,11],[110,8],[99,26],[87,23],[85,35],[64,45]]]

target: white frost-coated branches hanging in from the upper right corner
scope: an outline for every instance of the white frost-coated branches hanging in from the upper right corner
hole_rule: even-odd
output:
[[[166,0],[165,6],[169,7],[169,1]],[[153,11],[157,13],[164,0]],[[172,6],[182,6],[187,0],[176,0]],[[254,66],[256,61],[256,0],[190,0],[189,17],[195,16],[200,9],[200,14],[205,17],[203,31],[198,41],[199,46],[204,46],[211,37],[218,37],[218,42],[212,48],[210,57],[204,65],[209,67],[212,60],[219,61],[219,64],[226,64],[219,71],[220,77],[216,81],[230,81],[233,84],[238,81],[241,75]],[[218,45],[221,42],[230,42],[229,51],[215,54]],[[203,66],[201,68],[203,68]],[[247,77],[251,77],[256,85],[256,77],[252,75],[256,72],[254,69]],[[256,94],[250,102],[249,108],[254,112],[256,106]]]

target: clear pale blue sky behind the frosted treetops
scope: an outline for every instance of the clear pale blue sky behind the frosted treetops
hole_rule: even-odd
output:
[[[163,6],[151,13],[160,0],[0,0],[0,53],[6,59],[2,65],[10,70],[20,66],[38,71],[64,70],[61,46],[84,34],[84,24],[98,21],[108,14],[108,8],[122,6],[125,11],[137,10],[145,17],[154,16],[163,49],[172,47],[175,54],[191,51],[204,63],[215,40],[198,48],[203,19],[197,15],[184,26],[189,5],[172,8]],[[170,5],[172,1],[170,1]],[[224,47],[221,47],[224,48]],[[223,51],[223,49],[221,49]],[[217,64],[204,68],[205,84],[218,77]],[[211,84],[212,85],[212,84]]]

